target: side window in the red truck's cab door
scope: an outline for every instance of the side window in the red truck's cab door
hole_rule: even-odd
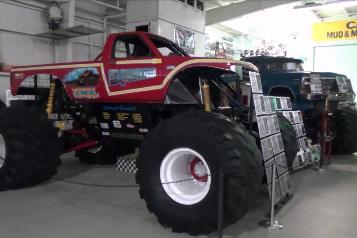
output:
[[[118,36],[113,45],[111,58],[151,57],[155,54],[139,35]]]

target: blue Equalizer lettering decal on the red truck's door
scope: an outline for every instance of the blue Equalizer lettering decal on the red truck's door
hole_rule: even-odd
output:
[[[156,77],[156,68],[110,69],[108,70],[109,86],[125,86],[127,83],[152,79]]]

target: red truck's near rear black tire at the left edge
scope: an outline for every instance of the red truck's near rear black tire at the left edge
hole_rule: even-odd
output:
[[[0,190],[50,179],[61,164],[61,143],[53,120],[38,110],[0,112]]]

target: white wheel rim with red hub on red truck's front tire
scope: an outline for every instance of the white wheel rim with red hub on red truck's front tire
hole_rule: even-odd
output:
[[[190,170],[193,160],[200,162],[192,165],[196,171],[195,176],[191,173],[192,169]],[[191,179],[162,185],[172,200],[184,205],[196,204],[206,197],[211,185],[210,174],[210,169],[202,155],[189,148],[171,150],[162,160],[160,167],[161,183]],[[197,176],[200,177],[198,180]]]

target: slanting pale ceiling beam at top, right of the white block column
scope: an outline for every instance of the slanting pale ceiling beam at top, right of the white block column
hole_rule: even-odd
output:
[[[294,0],[260,0],[242,1],[227,6],[221,6],[211,10],[206,10],[206,26],[220,23],[222,21],[239,18],[243,15],[254,13],[266,8],[297,2]]]

